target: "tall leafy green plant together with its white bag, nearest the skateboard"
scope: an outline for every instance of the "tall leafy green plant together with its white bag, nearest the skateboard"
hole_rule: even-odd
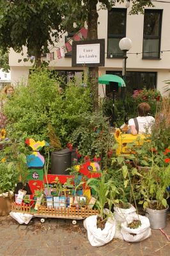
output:
[[[102,246],[113,239],[116,230],[116,221],[111,213],[113,200],[109,200],[111,189],[115,189],[114,182],[108,180],[106,174],[102,174],[98,179],[89,179],[87,185],[97,193],[95,207],[97,207],[99,214],[86,218],[84,227],[88,231],[89,243],[92,246]],[[107,203],[109,205],[108,210],[105,209]]]

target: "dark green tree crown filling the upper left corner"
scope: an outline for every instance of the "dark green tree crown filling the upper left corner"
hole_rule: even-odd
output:
[[[0,0],[0,45],[21,52],[23,45],[41,64],[42,47],[54,45],[65,13],[61,0]]]

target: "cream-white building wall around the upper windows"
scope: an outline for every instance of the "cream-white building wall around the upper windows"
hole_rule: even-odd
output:
[[[168,3],[155,3],[155,9],[164,9],[162,15],[162,36],[160,51],[170,50],[170,4]],[[116,4],[115,7],[125,8],[125,3]],[[151,8],[152,9],[152,8]],[[128,8],[128,12],[130,8]],[[128,15],[127,12],[127,37],[132,40],[132,49],[128,53],[142,52],[143,51],[143,22],[144,15]],[[99,74],[105,74],[106,70],[122,70],[123,60],[106,58],[107,54],[107,10],[100,10],[98,12],[98,38],[105,38],[105,67],[99,68]],[[64,45],[64,37],[56,46],[61,47]],[[54,49],[52,49],[54,51]],[[26,49],[24,49],[26,54]],[[63,58],[58,60],[55,54],[56,60],[50,61],[50,68],[58,70],[82,70],[83,68],[72,68],[71,58]],[[127,59],[127,71],[150,71],[157,72],[157,89],[162,93],[164,92],[164,81],[170,79],[170,51],[160,54],[159,60],[143,60],[142,54],[128,54]],[[17,83],[20,78],[27,77],[29,74],[29,68],[31,63],[22,61],[18,63],[19,59],[26,58],[26,56],[20,56],[20,54],[10,51],[10,66],[12,73],[12,83]],[[103,94],[103,89],[99,85],[100,95]]]

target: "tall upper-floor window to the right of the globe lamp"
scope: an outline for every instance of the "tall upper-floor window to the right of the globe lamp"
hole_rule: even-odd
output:
[[[143,27],[143,58],[160,58],[162,10],[145,10]]]

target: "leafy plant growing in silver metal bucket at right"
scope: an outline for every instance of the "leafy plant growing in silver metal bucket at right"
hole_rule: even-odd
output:
[[[139,204],[143,204],[146,216],[150,219],[151,228],[166,227],[167,187],[170,184],[170,165],[159,167],[153,163],[149,172],[144,172],[139,181],[137,191],[143,197]]]

